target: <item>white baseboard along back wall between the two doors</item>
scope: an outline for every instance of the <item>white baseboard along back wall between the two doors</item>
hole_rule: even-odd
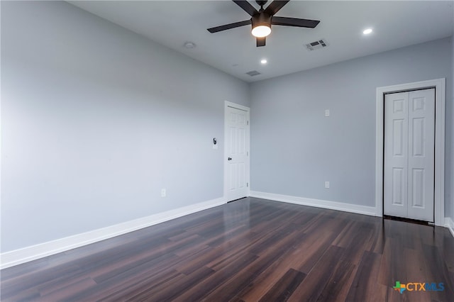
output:
[[[321,199],[304,198],[297,196],[272,194],[258,191],[250,191],[250,197],[270,199],[272,201],[282,201],[287,203],[295,203],[301,206],[315,206],[317,208],[329,208],[331,210],[344,211],[350,213],[358,213],[369,216],[376,216],[374,206],[359,206],[351,203],[341,203],[337,201],[323,201]]]

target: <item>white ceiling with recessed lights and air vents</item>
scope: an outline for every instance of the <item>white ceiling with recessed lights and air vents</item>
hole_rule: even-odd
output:
[[[220,33],[206,30],[250,18],[233,1],[69,2],[247,82],[454,33],[454,1],[292,0],[276,16],[320,20],[319,26],[314,29],[273,26],[265,47],[255,47],[250,26]],[[255,1],[249,2],[259,8]],[[374,32],[363,35],[365,28],[373,28]],[[305,44],[321,38],[328,41],[328,47],[306,50]],[[196,47],[185,48],[186,41]],[[260,64],[262,58],[267,59],[267,65]],[[245,74],[252,70],[262,74],[255,77]]]

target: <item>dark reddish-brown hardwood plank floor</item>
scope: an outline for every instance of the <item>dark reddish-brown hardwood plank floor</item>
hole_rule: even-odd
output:
[[[397,281],[409,289],[395,291]],[[454,238],[446,228],[244,198],[4,269],[1,301],[449,302]]]

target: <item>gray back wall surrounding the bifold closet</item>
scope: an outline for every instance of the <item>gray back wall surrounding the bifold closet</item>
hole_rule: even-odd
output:
[[[442,77],[452,167],[452,51],[445,38],[251,84],[251,189],[375,206],[375,89]]]

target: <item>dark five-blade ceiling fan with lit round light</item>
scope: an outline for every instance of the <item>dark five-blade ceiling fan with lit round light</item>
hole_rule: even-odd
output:
[[[243,9],[246,13],[249,14],[252,18],[245,21],[240,21],[236,23],[230,23],[223,26],[216,26],[214,28],[208,28],[210,33],[217,33],[222,30],[228,30],[231,28],[236,28],[240,26],[246,26],[252,24],[253,30],[252,34],[257,38],[257,47],[265,46],[266,37],[271,33],[271,25],[279,25],[279,26],[295,26],[295,27],[305,27],[305,28],[315,28],[320,21],[316,20],[307,20],[307,19],[299,19],[299,18],[287,18],[287,17],[277,17],[275,13],[282,9],[282,6],[287,4],[290,0],[280,1],[275,0],[272,1],[270,5],[267,6],[266,9],[263,9],[263,6],[267,3],[267,1],[258,1],[256,0],[257,4],[260,6],[260,10],[254,8],[254,6],[250,5],[248,1],[244,0],[232,0],[241,9]]]

